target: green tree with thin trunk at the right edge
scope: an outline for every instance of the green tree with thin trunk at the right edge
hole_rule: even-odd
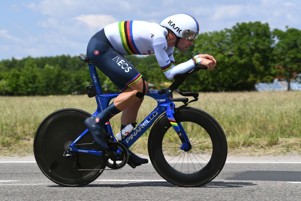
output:
[[[286,31],[275,29],[273,35],[278,40],[274,48],[276,64],[286,72],[289,91],[293,73],[301,73],[301,30],[288,27]]]

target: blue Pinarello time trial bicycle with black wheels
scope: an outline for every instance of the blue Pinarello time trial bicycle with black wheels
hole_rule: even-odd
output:
[[[104,170],[116,170],[129,164],[128,151],[152,126],[148,137],[148,154],[155,170],[166,181],[181,187],[197,187],[212,181],[222,170],[227,158],[227,140],[219,123],[208,113],[188,103],[198,100],[198,93],[182,93],[181,83],[194,72],[206,70],[197,66],[185,74],[174,76],[166,89],[149,90],[146,96],[155,99],[157,107],[122,141],[113,134],[110,121],[103,132],[109,151],[102,152],[93,142],[84,121],[99,114],[120,93],[103,94],[96,68],[85,56],[93,85],[87,86],[89,97],[95,97],[94,114],[65,108],[48,115],[39,125],[33,150],[36,162],[46,177],[66,187],[91,183]],[[173,92],[182,98],[173,98]],[[188,101],[187,97],[194,99]],[[184,105],[175,107],[174,102]]]

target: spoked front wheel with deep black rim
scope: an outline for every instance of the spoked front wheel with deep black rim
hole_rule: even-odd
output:
[[[174,114],[185,130],[191,149],[181,140],[166,115],[151,129],[148,153],[155,170],[166,181],[181,187],[197,187],[212,181],[227,158],[227,140],[219,123],[208,113],[185,107]]]

